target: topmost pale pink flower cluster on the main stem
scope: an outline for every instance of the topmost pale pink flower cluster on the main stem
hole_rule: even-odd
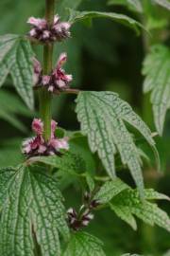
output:
[[[55,15],[54,22],[51,26],[47,24],[45,19],[37,19],[34,17],[30,17],[27,23],[32,26],[28,35],[42,43],[60,42],[70,37],[71,34],[71,24],[68,22],[60,22],[59,15]]]

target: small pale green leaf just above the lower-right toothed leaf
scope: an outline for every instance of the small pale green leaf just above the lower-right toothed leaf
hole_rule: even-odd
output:
[[[127,190],[128,186],[121,179],[115,178],[114,180],[106,182],[100,190],[95,194],[94,199],[101,204],[108,203],[112,197],[124,190]]]

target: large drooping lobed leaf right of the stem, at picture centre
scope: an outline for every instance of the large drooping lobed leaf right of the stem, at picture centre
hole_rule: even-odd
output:
[[[98,153],[110,177],[115,177],[114,155],[118,152],[142,192],[141,157],[125,121],[135,127],[155,150],[155,142],[144,121],[113,92],[80,92],[76,103],[81,130],[88,136],[92,152]]]

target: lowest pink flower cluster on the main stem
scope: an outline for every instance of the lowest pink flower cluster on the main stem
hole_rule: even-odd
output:
[[[34,119],[32,122],[32,130],[36,137],[27,138],[23,142],[23,154],[27,157],[36,155],[60,155],[59,150],[68,150],[68,137],[57,138],[55,131],[57,129],[57,122],[51,121],[51,137],[48,141],[44,141],[42,137],[43,123],[41,119]]]

